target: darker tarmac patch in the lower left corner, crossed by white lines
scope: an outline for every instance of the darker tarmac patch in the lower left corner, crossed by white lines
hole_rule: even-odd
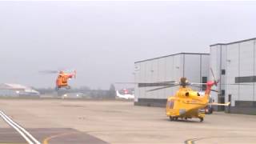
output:
[[[67,128],[54,128],[54,129],[26,129],[30,132],[39,142],[43,144],[106,144],[102,140],[91,136],[90,134],[82,133],[78,130]],[[0,129],[0,144],[26,144],[26,140],[22,138],[17,131],[12,128]]]

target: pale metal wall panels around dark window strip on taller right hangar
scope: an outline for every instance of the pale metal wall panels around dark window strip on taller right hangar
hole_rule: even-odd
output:
[[[255,75],[255,40],[234,43],[227,45],[227,78],[226,83],[235,83],[236,77],[246,77]],[[243,82],[252,84],[251,82]],[[231,106],[235,106],[235,101],[254,101],[254,83],[249,86],[226,86],[226,100],[228,95],[232,95]]]

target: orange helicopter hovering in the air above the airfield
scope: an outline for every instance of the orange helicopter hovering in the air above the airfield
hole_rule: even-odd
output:
[[[55,90],[59,90],[61,88],[70,89],[71,86],[68,85],[68,80],[71,78],[76,78],[77,71],[72,70],[71,72],[67,70],[44,70],[40,71],[43,74],[58,74],[56,78],[56,87]]]

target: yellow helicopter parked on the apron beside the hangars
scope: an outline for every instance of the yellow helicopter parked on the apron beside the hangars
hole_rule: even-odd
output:
[[[212,70],[211,70],[212,72]],[[213,72],[212,72],[213,74]],[[214,74],[213,74],[214,76]],[[199,118],[200,122],[204,120],[205,113],[201,112],[207,105],[215,106],[229,106],[230,102],[220,104],[220,103],[209,103],[210,91],[212,86],[217,86],[217,81],[210,81],[207,83],[190,83],[186,78],[181,78],[180,82],[165,82],[167,86],[160,87],[153,90],[166,89],[173,86],[180,86],[174,96],[167,98],[166,102],[166,115],[170,118],[170,121],[177,121],[178,118]],[[198,91],[192,90],[189,86],[198,87],[198,85],[206,85],[206,92],[204,95],[200,95]]]

